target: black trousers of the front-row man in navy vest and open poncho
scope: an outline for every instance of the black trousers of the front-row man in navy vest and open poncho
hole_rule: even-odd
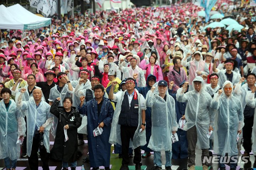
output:
[[[129,144],[130,139],[133,141],[133,136],[137,127],[121,125],[121,142],[122,142],[122,164],[129,164]],[[140,146],[134,149],[133,163],[138,164],[141,162]]]

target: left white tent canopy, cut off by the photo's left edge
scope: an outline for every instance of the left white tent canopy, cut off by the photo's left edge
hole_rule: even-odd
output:
[[[23,29],[23,24],[4,5],[0,5],[0,16],[0,29]]]

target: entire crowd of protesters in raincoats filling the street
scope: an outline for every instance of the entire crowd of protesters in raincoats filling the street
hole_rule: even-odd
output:
[[[186,159],[180,169],[195,170],[196,144],[203,170],[213,153],[225,170],[222,160],[240,153],[238,136],[242,157],[256,157],[255,8],[214,6],[244,27],[239,30],[207,28],[222,18],[206,22],[201,10],[191,3],[137,7],[53,17],[39,30],[0,30],[6,169],[15,170],[22,143],[30,169],[38,169],[39,150],[44,170],[49,158],[74,170],[84,134],[93,170],[110,169],[112,144],[120,170],[129,170],[133,156],[140,170],[152,152],[153,169],[161,170],[161,151],[166,170],[171,159]],[[237,163],[229,165],[235,170]]]

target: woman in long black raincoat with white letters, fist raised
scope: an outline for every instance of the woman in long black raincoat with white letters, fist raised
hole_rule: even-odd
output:
[[[63,107],[58,107],[60,97],[58,97],[50,107],[50,113],[58,118],[57,133],[51,158],[62,160],[63,170],[68,170],[70,163],[71,170],[76,169],[76,156],[78,150],[77,129],[81,125],[81,118],[75,107],[72,107],[71,97],[65,97]]]

